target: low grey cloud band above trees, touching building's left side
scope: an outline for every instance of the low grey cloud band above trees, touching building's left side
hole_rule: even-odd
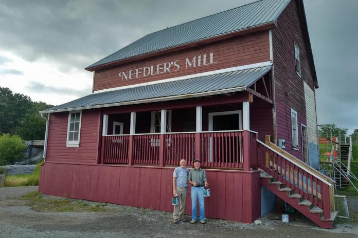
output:
[[[91,92],[90,88],[85,88],[81,90],[73,89],[73,88],[63,88],[63,87],[53,87],[53,86],[46,86],[42,83],[38,82],[30,82],[28,84],[29,91],[32,92],[41,92],[44,94],[58,94],[58,95],[69,95],[75,97],[82,97],[88,95]]]

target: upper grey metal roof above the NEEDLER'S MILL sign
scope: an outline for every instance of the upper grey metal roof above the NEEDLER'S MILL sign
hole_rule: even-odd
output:
[[[261,0],[148,34],[86,69],[275,22],[290,0]]]

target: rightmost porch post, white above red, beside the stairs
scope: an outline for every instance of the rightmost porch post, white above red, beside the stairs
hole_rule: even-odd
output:
[[[250,171],[251,168],[251,154],[250,154],[250,104],[249,102],[242,103],[242,129],[243,129],[243,156],[244,156],[244,170]]]

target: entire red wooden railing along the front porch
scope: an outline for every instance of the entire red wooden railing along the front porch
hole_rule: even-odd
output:
[[[103,164],[192,165],[200,158],[211,168],[256,168],[256,138],[252,131],[210,131],[102,136]]]

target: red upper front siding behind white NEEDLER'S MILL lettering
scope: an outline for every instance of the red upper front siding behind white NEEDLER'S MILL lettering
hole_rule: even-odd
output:
[[[198,55],[206,54],[206,61],[209,62],[210,53],[213,53],[213,61],[217,63],[197,66],[195,68],[186,68],[186,58],[191,59],[194,56],[198,58]],[[176,60],[180,60],[180,62],[178,62],[180,70],[177,71],[172,70],[171,72],[153,74],[124,81],[122,81],[122,78],[118,75],[120,72],[135,70],[146,66],[150,67],[152,65],[155,67],[157,64],[174,62]],[[98,70],[94,76],[94,91],[266,61],[270,61],[270,49],[268,31],[263,31],[231,38],[222,42],[196,46],[177,53],[147,58],[139,62]]]

